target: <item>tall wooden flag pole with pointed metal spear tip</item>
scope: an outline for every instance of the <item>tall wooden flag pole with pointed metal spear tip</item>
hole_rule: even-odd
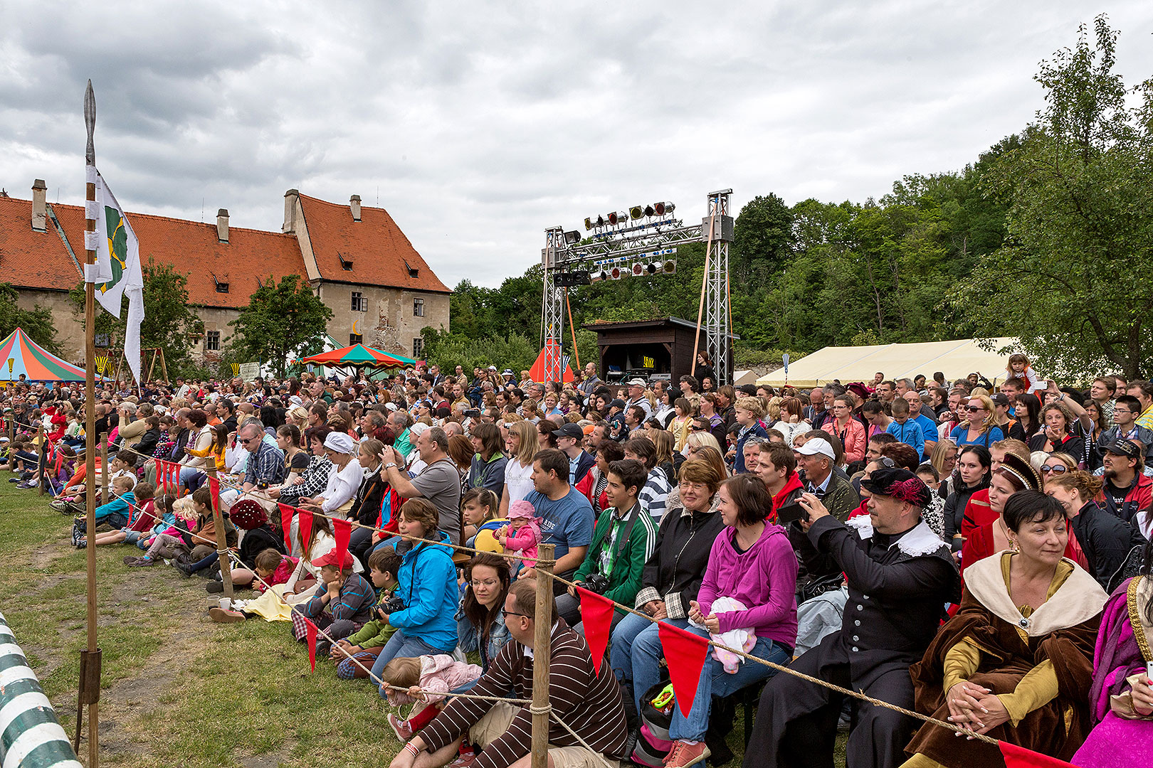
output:
[[[96,201],[96,94],[92,92],[92,81],[88,81],[84,90],[84,127],[88,129],[88,145],[84,149],[85,195],[88,203]],[[85,208],[95,206],[86,205]],[[84,231],[96,233],[96,220],[90,218],[95,212],[85,212]],[[98,214],[97,214],[98,215]],[[85,239],[92,236],[85,234]],[[84,486],[85,504],[88,507],[85,538],[88,546],[88,648],[80,656],[80,693],[81,705],[88,705],[88,768],[100,765],[99,700],[100,700],[100,648],[96,645],[96,283],[90,280],[90,272],[96,265],[96,251],[89,249],[95,243],[84,243],[84,434],[88,448],[84,451]],[[107,476],[108,467],[101,467]],[[107,501],[107,500],[105,500]],[[77,718],[77,740],[80,739],[80,722]],[[77,744],[78,746],[78,744]]]

